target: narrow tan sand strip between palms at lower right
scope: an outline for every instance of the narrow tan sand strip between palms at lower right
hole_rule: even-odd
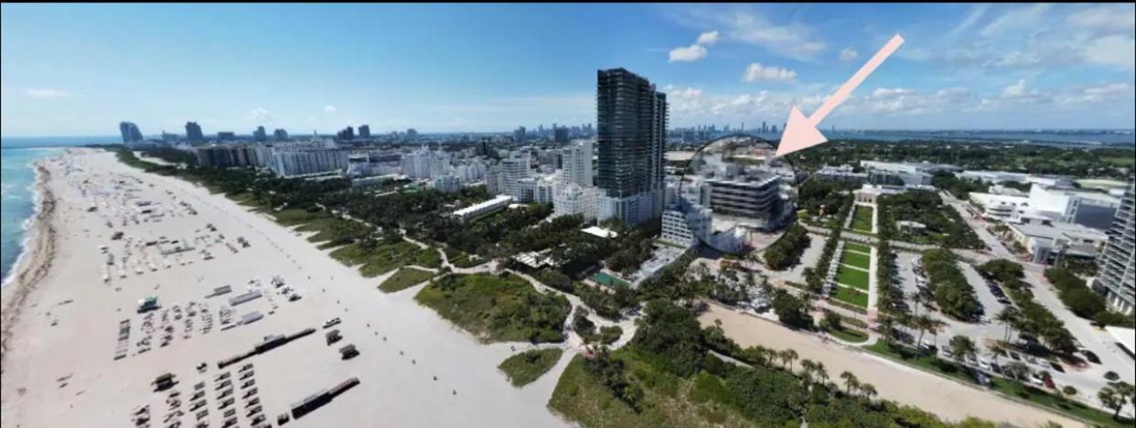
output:
[[[724,307],[710,305],[699,321],[703,326],[721,320],[726,336],[742,346],[765,345],[775,350],[793,349],[801,359],[825,364],[828,376],[836,379],[842,371],[851,371],[861,381],[876,386],[880,398],[914,405],[947,420],[977,417],[1020,427],[1039,427],[1055,421],[1063,427],[1081,427],[1076,420],[999,397],[953,380],[947,380],[901,363],[845,349],[834,341],[824,342],[818,336],[786,329],[772,321],[740,313]],[[800,364],[797,364],[800,366]]]

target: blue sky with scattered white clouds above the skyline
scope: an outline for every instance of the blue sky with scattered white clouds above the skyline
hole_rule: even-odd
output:
[[[595,70],[676,126],[1133,128],[1133,5],[3,5],[0,134],[508,131],[595,120]]]

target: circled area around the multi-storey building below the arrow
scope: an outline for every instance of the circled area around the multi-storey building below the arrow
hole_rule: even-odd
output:
[[[726,136],[702,146],[667,195],[663,234],[685,227],[702,244],[730,254],[761,251],[793,223],[796,173],[768,141]]]

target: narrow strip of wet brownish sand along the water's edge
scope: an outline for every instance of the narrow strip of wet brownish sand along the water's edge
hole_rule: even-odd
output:
[[[35,213],[25,223],[28,234],[24,237],[24,246],[11,272],[3,280],[2,305],[0,305],[0,372],[7,371],[8,339],[12,328],[19,321],[24,304],[35,289],[37,283],[51,269],[56,250],[56,227],[52,224],[56,213],[55,193],[48,187],[51,173],[43,166],[45,160],[35,161],[34,201]]]

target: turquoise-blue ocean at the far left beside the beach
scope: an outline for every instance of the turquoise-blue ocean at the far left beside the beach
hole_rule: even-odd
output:
[[[117,137],[3,137],[0,140],[0,275],[7,283],[11,269],[24,252],[27,219],[35,213],[36,159],[58,153],[64,148],[87,143],[114,143]]]

